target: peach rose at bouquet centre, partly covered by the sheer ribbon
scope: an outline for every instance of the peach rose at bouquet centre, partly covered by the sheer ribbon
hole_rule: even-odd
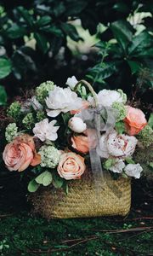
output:
[[[87,129],[83,134],[71,137],[71,146],[77,149],[78,152],[87,154],[89,148],[95,148],[97,145],[96,131],[94,129]],[[90,137],[90,141],[88,140],[88,136]]]

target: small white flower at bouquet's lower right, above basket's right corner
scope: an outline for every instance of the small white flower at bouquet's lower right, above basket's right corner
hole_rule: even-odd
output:
[[[128,164],[125,167],[124,171],[127,174],[127,176],[139,178],[140,173],[143,172],[143,168],[139,164],[137,165]]]

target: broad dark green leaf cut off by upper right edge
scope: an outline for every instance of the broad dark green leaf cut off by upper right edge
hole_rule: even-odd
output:
[[[148,50],[152,54],[153,36],[148,32],[143,31],[138,36],[133,38],[132,43],[128,47],[129,55],[147,55]]]

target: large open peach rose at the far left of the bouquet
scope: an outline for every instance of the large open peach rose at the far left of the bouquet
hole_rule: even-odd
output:
[[[22,172],[28,166],[37,166],[41,156],[37,154],[33,138],[27,134],[15,137],[3,151],[3,160],[9,171]]]

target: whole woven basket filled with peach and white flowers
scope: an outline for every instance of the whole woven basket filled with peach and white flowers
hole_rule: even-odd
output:
[[[152,130],[122,90],[97,94],[75,77],[65,89],[47,81],[13,102],[7,115],[3,161],[26,175],[36,212],[47,218],[129,212],[131,177],[143,172],[133,154]]]

